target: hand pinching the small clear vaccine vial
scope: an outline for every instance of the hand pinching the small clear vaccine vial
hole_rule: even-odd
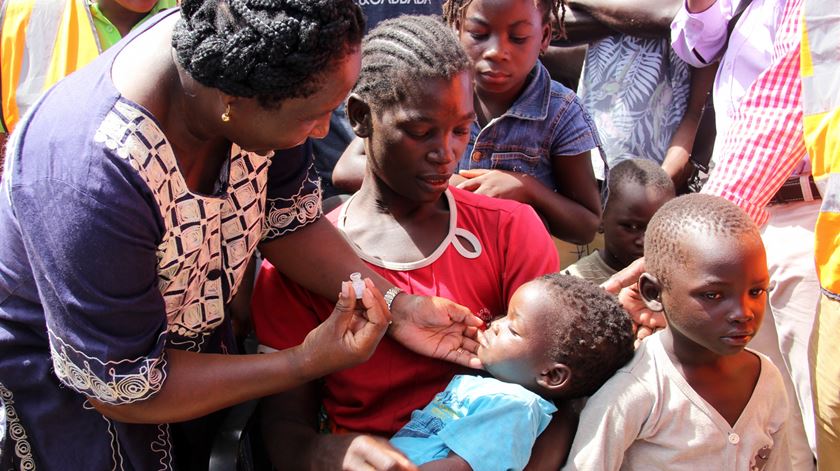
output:
[[[364,281],[361,299],[356,299],[350,282],[341,284],[332,314],[300,346],[306,352],[301,371],[318,378],[363,363],[373,354],[391,315],[382,293],[369,278]]]

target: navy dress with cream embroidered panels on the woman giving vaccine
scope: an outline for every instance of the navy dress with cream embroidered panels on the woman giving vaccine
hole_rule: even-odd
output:
[[[187,187],[155,118],[110,74],[129,41],[172,14],[56,84],[10,138],[0,469],[170,469],[169,425],[113,421],[88,398],[149,399],[166,348],[228,352],[225,304],[257,243],[321,216],[309,146],[272,160],[234,145],[211,194]]]

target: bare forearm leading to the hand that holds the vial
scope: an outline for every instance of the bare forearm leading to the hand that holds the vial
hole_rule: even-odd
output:
[[[181,422],[298,386],[325,373],[308,362],[298,347],[262,355],[168,349],[166,359],[166,379],[151,398],[121,405],[90,402],[102,415],[120,422]]]

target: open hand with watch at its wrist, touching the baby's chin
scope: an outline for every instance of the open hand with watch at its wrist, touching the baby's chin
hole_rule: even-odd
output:
[[[400,294],[394,301],[391,335],[421,355],[481,368],[476,356],[484,325],[469,309],[448,299]]]

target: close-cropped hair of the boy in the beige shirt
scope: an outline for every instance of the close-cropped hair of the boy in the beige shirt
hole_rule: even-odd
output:
[[[741,208],[712,195],[691,194],[665,203],[651,218],[645,233],[645,270],[667,288],[675,266],[685,266],[691,254],[685,239],[692,235],[761,240],[758,227]]]

